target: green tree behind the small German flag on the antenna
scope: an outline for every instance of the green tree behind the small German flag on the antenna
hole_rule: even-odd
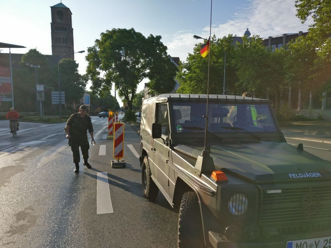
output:
[[[230,34],[216,40],[212,37],[209,69],[209,94],[223,93],[224,79],[224,49],[226,52],[225,90],[231,94],[237,81],[232,59],[235,47],[232,45],[233,36]],[[200,55],[200,46],[194,46],[193,53],[189,53],[186,62],[180,63],[176,79],[179,83],[177,93],[207,94],[209,56]]]

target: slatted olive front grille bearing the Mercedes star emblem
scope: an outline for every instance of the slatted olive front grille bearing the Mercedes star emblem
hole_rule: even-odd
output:
[[[330,225],[320,225],[331,220],[331,186],[282,188],[282,192],[276,194],[268,194],[262,189],[260,210],[262,226],[281,225],[288,228],[289,232],[296,232],[297,229],[299,232],[330,229]]]

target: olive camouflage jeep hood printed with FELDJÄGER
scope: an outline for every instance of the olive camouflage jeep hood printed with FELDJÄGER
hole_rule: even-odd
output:
[[[331,162],[285,142],[211,145],[215,168],[256,183],[331,179]],[[197,158],[203,147],[174,147]]]

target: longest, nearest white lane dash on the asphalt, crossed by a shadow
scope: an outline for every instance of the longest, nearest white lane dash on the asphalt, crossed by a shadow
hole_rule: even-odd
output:
[[[107,172],[97,172],[97,214],[114,213]]]

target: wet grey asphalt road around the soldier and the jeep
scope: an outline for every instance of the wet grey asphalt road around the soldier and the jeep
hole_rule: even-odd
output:
[[[64,123],[21,122],[14,138],[8,121],[0,121],[1,247],[177,247],[178,214],[161,193],[154,202],[143,196],[137,131],[125,124],[126,167],[111,168],[107,118],[92,121],[93,168],[81,161],[78,174]],[[330,143],[298,137],[287,142],[303,143],[305,150],[331,161]]]

